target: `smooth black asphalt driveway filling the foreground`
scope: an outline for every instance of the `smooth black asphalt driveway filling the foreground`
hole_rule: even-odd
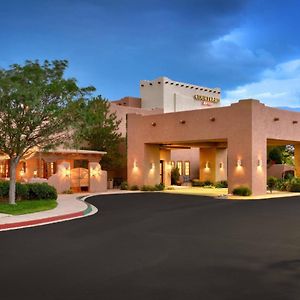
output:
[[[88,218],[0,233],[1,299],[300,299],[300,198],[96,196]]]

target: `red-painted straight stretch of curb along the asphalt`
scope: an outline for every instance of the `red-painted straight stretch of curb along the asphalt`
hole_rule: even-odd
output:
[[[16,223],[0,224],[0,230],[12,229],[12,228],[18,228],[18,227],[27,227],[27,226],[38,225],[38,224],[43,224],[43,223],[51,223],[51,222],[56,222],[56,221],[74,219],[77,217],[83,217],[84,215],[85,215],[85,210],[76,212],[76,213],[69,213],[69,214],[65,214],[65,215],[48,217],[48,218],[37,219],[37,220],[28,220],[28,221],[22,221],[22,222],[16,222]]]

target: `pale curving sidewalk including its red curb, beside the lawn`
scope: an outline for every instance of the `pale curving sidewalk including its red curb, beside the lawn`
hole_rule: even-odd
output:
[[[83,196],[87,194],[58,195],[57,207],[47,211],[20,216],[0,214],[0,231],[51,224],[95,214],[98,211],[96,207],[77,199]]]

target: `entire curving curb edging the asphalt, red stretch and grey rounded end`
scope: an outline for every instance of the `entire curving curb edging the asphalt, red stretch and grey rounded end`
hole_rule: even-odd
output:
[[[88,197],[89,196],[83,197],[81,199],[76,198],[76,200],[85,202],[85,200]],[[59,223],[59,222],[64,222],[64,221],[71,221],[74,219],[88,217],[88,216],[94,215],[98,212],[98,209],[94,205],[89,204],[87,202],[85,202],[85,204],[87,206],[86,209],[78,211],[78,212],[74,212],[74,213],[62,214],[62,215],[57,215],[57,216],[53,216],[53,217],[27,220],[27,221],[15,222],[15,223],[0,224],[0,232],[28,228],[28,227],[48,225],[48,224]]]

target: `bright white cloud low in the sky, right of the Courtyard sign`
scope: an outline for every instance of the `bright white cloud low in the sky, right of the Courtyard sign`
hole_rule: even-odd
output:
[[[266,69],[260,80],[224,91],[223,104],[253,98],[269,106],[300,106],[300,59]]]

